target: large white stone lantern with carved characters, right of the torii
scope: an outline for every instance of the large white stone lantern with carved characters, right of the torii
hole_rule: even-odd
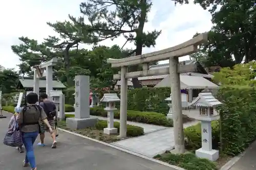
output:
[[[216,161],[219,158],[219,151],[212,149],[211,121],[220,118],[215,108],[221,104],[210,92],[199,93],[198,97],[190,104],[190,106],[199,107],[199,116],[194,118],[201,120],[202,125],[202,148],[196,151],[196,155],[200,158],[211,161]]]

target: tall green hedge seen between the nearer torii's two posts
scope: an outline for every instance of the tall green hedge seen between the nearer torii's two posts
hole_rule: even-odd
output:
[[[128,90],[127,108],[129,110],[153,111],[167,114],[169,107],[166,101],[170,88],[136,88]]]

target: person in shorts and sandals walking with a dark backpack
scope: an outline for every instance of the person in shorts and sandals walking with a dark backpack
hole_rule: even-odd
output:
[[[40,103],[39,105],[44,108],[46,112],[48,122],[53,129],[53,132],[50,133],[53,139],[52,148],[56,148],[57,141],[56,141],[56,130],[55,130],[55,121],[57,121],[56,117],[56,106],[55,104],[48,100],[48,95],[46,93],[42,93],[39,95]],[[55,115],[54,115],[55,114]],[[41,142],[37,143],[37,145],[44,147],[45,146],[45,132],[50,132],[47,125],[41,123],[40,126],[40,140]]]

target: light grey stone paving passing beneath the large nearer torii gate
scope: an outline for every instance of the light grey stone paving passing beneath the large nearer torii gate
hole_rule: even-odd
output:
[[[198,123],[198,121],[185,123],[183,127],[186,128],[192,125],[196,125]],[[165,151],[173,150],[174,128],[172,127],[159,130],[156,132],[145,134],[143,136],[113,142],[111,144],[152,158],[157,154],[162,154]]]

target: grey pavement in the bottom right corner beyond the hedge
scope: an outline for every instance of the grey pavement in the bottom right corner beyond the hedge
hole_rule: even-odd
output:
[[[230,170],[255,170],[256,169],[256,141],[246,150],[245,155],[235,163]]]

